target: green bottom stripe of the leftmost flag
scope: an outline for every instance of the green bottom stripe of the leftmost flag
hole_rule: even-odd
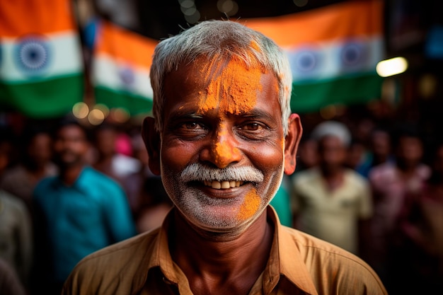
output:
[[[29,117],[58,117],[83,100],[83,91],[83,74],[29,83],[0,81],[0,105]]]

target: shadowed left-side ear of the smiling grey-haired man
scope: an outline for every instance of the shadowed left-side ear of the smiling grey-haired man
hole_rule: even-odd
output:
[[[142,125],[142,138],[149,155],[149,169],[155,175],[160,175],[160,134],[156,132],[153,117],[145,117]]]

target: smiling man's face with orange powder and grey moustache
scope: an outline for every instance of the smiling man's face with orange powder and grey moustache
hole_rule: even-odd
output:
[[[277,79],[238,60],[205,59],[166,76],[161,176],[185,219],[238,232],[275,195],[284,169]]]

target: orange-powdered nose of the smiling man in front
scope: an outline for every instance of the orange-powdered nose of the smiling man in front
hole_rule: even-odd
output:
[[[217,168],[226,168],[231,163],[241,161],[241,151],[232,131],[220,127],[214,132],[209,146],[200,153],[201,161],[213,163]]]

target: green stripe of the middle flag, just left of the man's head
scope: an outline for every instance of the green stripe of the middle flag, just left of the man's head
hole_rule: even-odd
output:
[[[96,103],[108,108],[125,108],[131,115],[146,114],[152,110],[152,100],[134,93],[115,91],[103,86],[94,88]]]

